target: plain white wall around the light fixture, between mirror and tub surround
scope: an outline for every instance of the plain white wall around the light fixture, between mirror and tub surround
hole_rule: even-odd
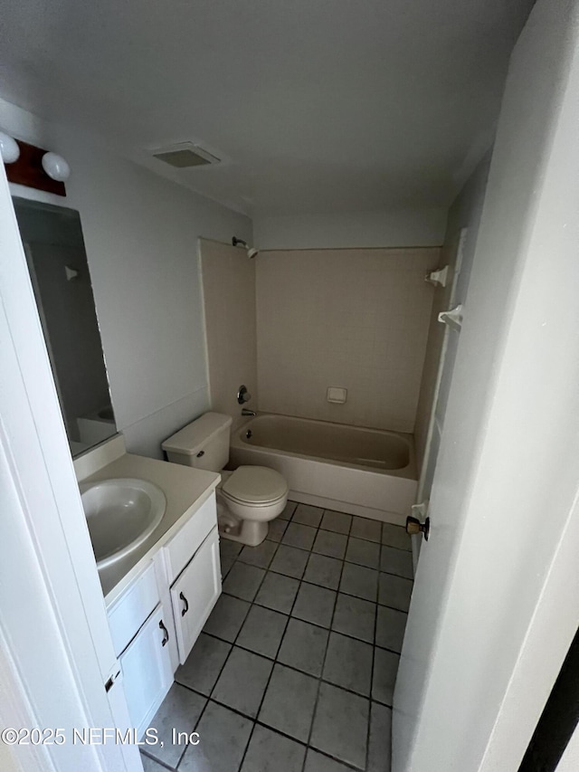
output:
[[[197,240],[251,241],[251,222],[4,100],[0,127],[71,165],[65,199],[11,189],[80,211],[117,425],[128,450],[159,456],[209,406]]]

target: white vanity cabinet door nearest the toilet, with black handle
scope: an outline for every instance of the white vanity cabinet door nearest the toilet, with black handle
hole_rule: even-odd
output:
[[[171,587],[181,664],[185,664],[220,594],[219,536],[214,528]]]

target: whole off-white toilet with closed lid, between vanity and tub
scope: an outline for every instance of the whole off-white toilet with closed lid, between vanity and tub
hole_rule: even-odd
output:
[[[288,483],[274,469],[240,466],[224,472],[229,462],[232,417],[205,413],[163,444],[170,462],[220,472],[217,486],[217,521],[224,538],[257,547],[268,535],[270,520],[277,518],[288,500]]]

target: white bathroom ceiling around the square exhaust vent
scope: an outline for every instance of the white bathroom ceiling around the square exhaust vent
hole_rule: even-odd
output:
[[[3,0],[0,96],[249,214],[448,205],[533,0]],[[142,158],[143,156],[141,156]]]

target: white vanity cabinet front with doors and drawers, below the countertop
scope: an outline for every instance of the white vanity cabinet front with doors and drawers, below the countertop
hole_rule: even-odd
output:
[[[139,737],[171,688],[177,661],[185,662],[220,594],[212,492],[107,609],[128,713]]]

